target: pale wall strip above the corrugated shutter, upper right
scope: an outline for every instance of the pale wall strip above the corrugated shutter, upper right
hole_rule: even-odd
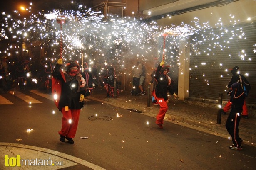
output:
[[[235,16],[231,20],[231,16]],[[209,22],[214,27],[221,18],[224,25],[233,24],[234,20],[239,21],[239,24],[256,22],[256,1],[255,0],[240,0],[232,2],[222,7],[210,7],[202,10],[188,12],[180,15],[172,16],[171,18],[163,18],[157,21],[158,25],[168,26],[174,24],[175,26],[181,25],[182,22],[190,24],[194,21],[194,17],[199,18],[199,23]],[[251,21],[247,21],[247,18],[251,17]]]

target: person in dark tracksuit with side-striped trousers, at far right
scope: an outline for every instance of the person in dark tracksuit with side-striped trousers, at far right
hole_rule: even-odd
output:
[[[231,111],[229,117],[226,121],[226,129],[232,137],[232,146],[230,149],[242,150],[241,143],[243,140],[239,137],[238,126],[241,119],[241,113],[243,111],[245,94],[240,83],[234,83],[231,85],[231,90],[229,91]]]

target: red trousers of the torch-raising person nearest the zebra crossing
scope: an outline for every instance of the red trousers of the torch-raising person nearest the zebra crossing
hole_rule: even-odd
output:
[[[59,134],[67,136],[67,138],[74,138],[77,132],[80,109],[69,109],[65,111],[65,107],[62,107],[61,112],[62,126]]]

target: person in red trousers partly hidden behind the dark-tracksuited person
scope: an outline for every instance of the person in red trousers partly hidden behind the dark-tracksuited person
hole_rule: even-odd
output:
[[[233,74],[233,76],[232,76],[231,80],[229,81],[227,88],[231,88],[232,84],[239,82],[241,84],[242,88],[243,88],[243,86],[246,87],[246,90],[248,93],[249,90],[251,89],[250,83],[246,80],[244,75],[240,74],[239,67],[235,66],[234,68],[232,68],[231,73]],[[231,104],[232,103],[229,100],[229,102],[221,110],[222,114],[226,114],[226,112],[228,112],[230,110]],[[245,100],[244,100],[244,105],[243,105],[242,117],[244,117],[245,119],[248,119],[248,109],[247,109]]]

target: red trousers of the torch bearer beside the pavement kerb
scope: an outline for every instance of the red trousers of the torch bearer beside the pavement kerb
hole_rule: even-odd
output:
[[[152,92],[152,95],[154,96],[155,100],[157,100],[160,106],[160,110],[157,114],[156,124],[164,124],[164,116],[168,110],[167,101],[165,101],[164,98],[158,98],[155,94],[155,91]]]

